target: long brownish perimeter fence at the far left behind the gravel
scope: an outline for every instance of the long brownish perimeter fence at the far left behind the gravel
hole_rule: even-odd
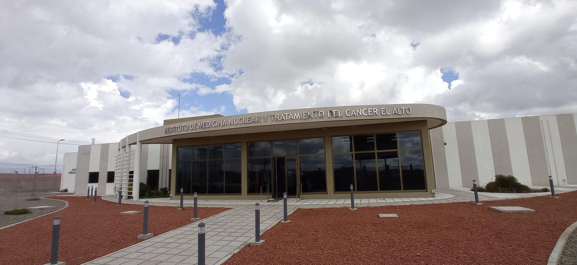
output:
[[[61,173],[50,174],[20,174],[0,173],[0,191],[31,192],[60,191]]]

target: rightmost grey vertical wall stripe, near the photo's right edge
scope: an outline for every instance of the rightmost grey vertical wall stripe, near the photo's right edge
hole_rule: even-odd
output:
[[[573,114],[557,115],[567,183],[577,184],[577,128]]]

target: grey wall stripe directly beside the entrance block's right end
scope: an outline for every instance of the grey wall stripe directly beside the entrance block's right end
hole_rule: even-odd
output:
[[[433,150],[434,177],[437,181],[437,189],[449,188],[449,173],[447,171],[447,157],[443,129],[441,127],[429,130],[431,138],[431,150]]]

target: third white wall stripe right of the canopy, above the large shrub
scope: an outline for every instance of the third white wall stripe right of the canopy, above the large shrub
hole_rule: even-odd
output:
[[[505,119],[505,129],[507,130],[513,175],[520,183],[533,185],[521,118]]]

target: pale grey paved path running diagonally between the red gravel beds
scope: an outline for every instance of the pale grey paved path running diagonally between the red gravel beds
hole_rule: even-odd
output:
[[[293,211],[295,207],[288,207]],[[283,218],[282,206],[261,206],[261,233]],[[197,264],[198,224],[206,224],[206,264],[220,264],[254,241],[254,205],[241,206],[194,222],[84,264]],[[136,234],[134,235],[136,237]]]

